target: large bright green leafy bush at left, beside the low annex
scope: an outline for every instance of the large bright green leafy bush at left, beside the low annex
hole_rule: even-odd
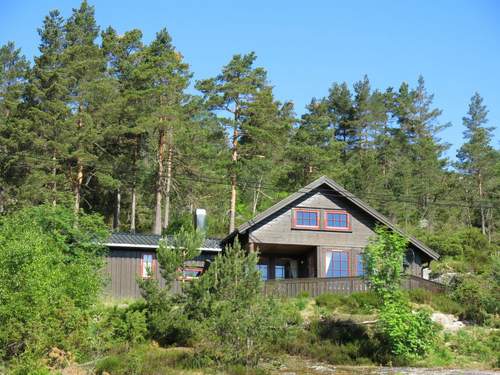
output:
[[[39,206],[0,220],[0,355],[38,359],[78,351],[101,292],[101,219]],[[30,359],[31,358],[31,359]]]

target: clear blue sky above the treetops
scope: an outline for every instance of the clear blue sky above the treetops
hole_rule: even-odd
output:
[[[441,120],[441,137],[462,142],[462,117],[475,91],[489,108],[500,146],[500,1],[167,1],[94,0],[102,28],[141,29],[145,41],[167,27],[195,79],[217,74],[235,53],[255,51],[280,100],[297,114],[332,82],[367,74],[374,88],[414,85],[422,74]],[[0,43],[37,54],[43,17],[69,16],[79,0],[0,0]]]

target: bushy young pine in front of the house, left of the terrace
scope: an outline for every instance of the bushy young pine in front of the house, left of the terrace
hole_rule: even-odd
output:
[[[197,350],[219,364],[254,366],[285,334],[281,305],[260,295],[257,254],[236,243],[187,289],[186,312],[199,323]]]

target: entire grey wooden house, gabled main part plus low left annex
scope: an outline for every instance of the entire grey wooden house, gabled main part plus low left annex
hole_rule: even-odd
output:
[[[217,254],[238,240],[248,251],[259,252],[258,267],[264,280],[321,279],[317,284],[324,284],[324,288],[315,287],[313,294],[366,290],[363,280],[358,280],[358,289],[353,289],[345,279],[363,276],[363,251],[374,237],[377,225],[408,239],[403,266],[414,279],[424,277],[430,262],[439,258],[432,249],[323,176],[242,224],[223,240],[206,239],[200,255],[188,262],[183,278],[200,275]],[[161,236],[151,234],[111,235],[106,244],[109,296],[140,297],[137,278],[149,277],[148,270],[164,285],[156,255],[161,240]],[[174,283],[174,292],[177,287],[178,283]]]

